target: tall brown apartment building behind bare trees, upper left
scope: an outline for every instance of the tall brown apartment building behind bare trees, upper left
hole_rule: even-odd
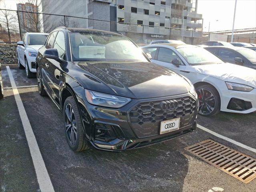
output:
[[[26,13],[26,12],[37,12],[37,7],[34,4],[31,3],[19,3],[16,4],[18,11],[24,11],[24,12],[18,12],[19,17],[19,24],[20,24],[20,32],[26,33],[26,32],[36,32],[37,31],[37,14],[35,13]]]

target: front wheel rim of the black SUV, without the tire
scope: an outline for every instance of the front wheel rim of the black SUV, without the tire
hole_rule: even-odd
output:
[[[76,143],[76,118],[70,104],[67,104],[65,108],[65,128],[70,144],[74,145]]]

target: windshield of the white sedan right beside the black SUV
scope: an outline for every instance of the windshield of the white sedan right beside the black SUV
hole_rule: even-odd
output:
[[[190,65],[206,65],[223,63],[218,57],[201,47],[177,48],[178,52]]]

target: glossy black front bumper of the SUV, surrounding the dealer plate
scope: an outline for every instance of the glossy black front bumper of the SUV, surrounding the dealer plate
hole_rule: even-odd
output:
[[[155,121],[151,121],[150,119],[150,122],[144,122],[144,124],[140,126],[134,125],[134,123],[138,125],[137,123],[141,122],[140,119],[138,119],[138,122],[131,122],[130,114],[134,114],[134,108],[138,105],[141,104],[145,107],[145,102],[152,103],[156,100],[177,99],[177,97],[189,97],[190,100],[187,100],[186,103],[184,103],[186,99],[184,102],[179,100],[180,107],[176,109],[174,116],[165,111],[165,116],[156,115],[154,117]],[[97,149],[122,151],[144,147],[189,134],[196,129],[198,102],[196,98],[190,94],[147,100],[133,99],[129,104],[120,109],[94,106],[89,104],[86,100],[84,103],[86,108],[80,106],[82,120],[86,127],[84,131],[92,146]],[[158,110],[159,113],[157,107],[156,110]],[[154,114],[152,114],[152,116],[154,116]],[[181,118],[180,129],[166,134],[160,134],[160,122],[176,117]],[[147,117],[144,118],[146,120],[148,119]]]

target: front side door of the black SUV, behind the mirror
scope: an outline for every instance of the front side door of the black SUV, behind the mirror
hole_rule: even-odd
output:
[[[66,60],[66,47],[65,47],[65,36],[64,32],[59,31],[58,34],[56,35],[53,47],[54,49],[58,50],[58,55],[59,58],[65,62]],[[60,85],[60,71],[61,71],[61,66],[60,62],[53,60],[53,59],[48,59],[48,86],[50,87],[50,94],[52,98],[57,102],[57,104],[60,104],[59,100],[59,85]]]

